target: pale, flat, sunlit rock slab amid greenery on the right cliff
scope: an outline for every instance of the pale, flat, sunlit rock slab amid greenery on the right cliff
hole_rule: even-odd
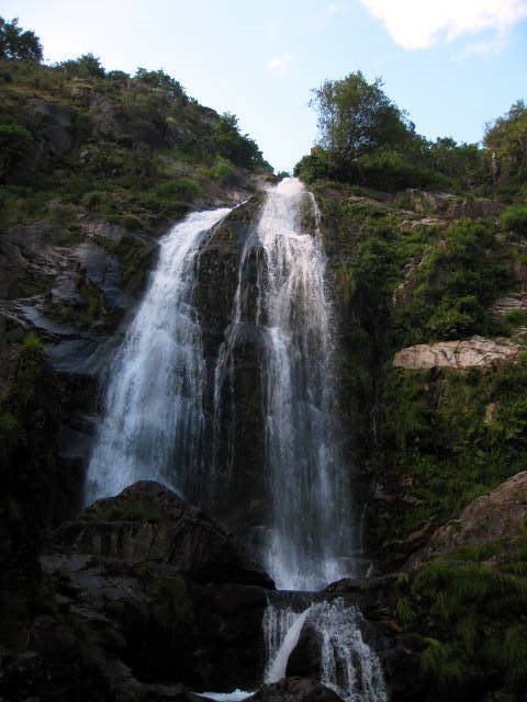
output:
[[[466,341],[439,341],[408,347],[395,353],[393,365],[411,371],[484,369],[494,364],[511,363],[520,351],[522,347],[506,339],[493,341],[474,336]]]

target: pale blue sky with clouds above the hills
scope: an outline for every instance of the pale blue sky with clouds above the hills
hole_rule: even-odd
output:
[[[278,170],[316,143],[311,90],[361,70],[417,133],[479,141],[527,99],[527,0],[2,0],[49,63],[162,68]]]

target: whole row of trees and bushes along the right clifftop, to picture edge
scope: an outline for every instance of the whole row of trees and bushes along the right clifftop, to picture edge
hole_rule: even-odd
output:
[[[503,196],[525,186],[527,107],[522,100],[487,125],[481,148],[421,136],[382,91],[382,81],[368,83],[360,71],[326,80],[313,93],[318,145],[295,169],[309,182],[322,178],[389,192],[424,188]]]

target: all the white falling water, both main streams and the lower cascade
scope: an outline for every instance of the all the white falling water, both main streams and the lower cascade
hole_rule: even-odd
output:
[[[190,215],[161,240],[158,267],[110,367],[87,501],[115,495],[137,479],[160,480],[212,505],[228,489],[218,479],[223,472],[228,482],[233,473],[228,452],[222,454],[225,465],[215,465],[212,475],[203,472],[208,377],[193,307],[197,256],[227,213]],[[268,191],[244,245],[232,324],[212,377],[213,443],[225,428],[225,397],[228,441],[237,439],[236,351],[249,327],[259,343],[262,388],[267,522],[261,553],[279,588],[315,590],[354,575],[357,530],[335,421],[333,314],[318,211],[295,179]],[[212,453],[217,461],[214,446]],[[264,618],[266,681],[285,675],[303,626],[310,625],[321,642],[322,682],[347,702],[385,702],[379,659],[360,623],[358,610],[343,600],[315,602],[302,612],[270,604]]]

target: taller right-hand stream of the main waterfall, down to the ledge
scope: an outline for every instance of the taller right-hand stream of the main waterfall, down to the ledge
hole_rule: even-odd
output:
[[[355,532],[349,466],[335,421],[326,258],[315,200],[298,179],[284,179],[267,192],[245,242],[216,384],[232,383],[244,325],[256,327],[262,346],[269,505],[262,558],[278,587],[317,589],[352,575]],[[217,387],[215,397],[221,397]],[[229,411],[234,416],[236,408]]]

